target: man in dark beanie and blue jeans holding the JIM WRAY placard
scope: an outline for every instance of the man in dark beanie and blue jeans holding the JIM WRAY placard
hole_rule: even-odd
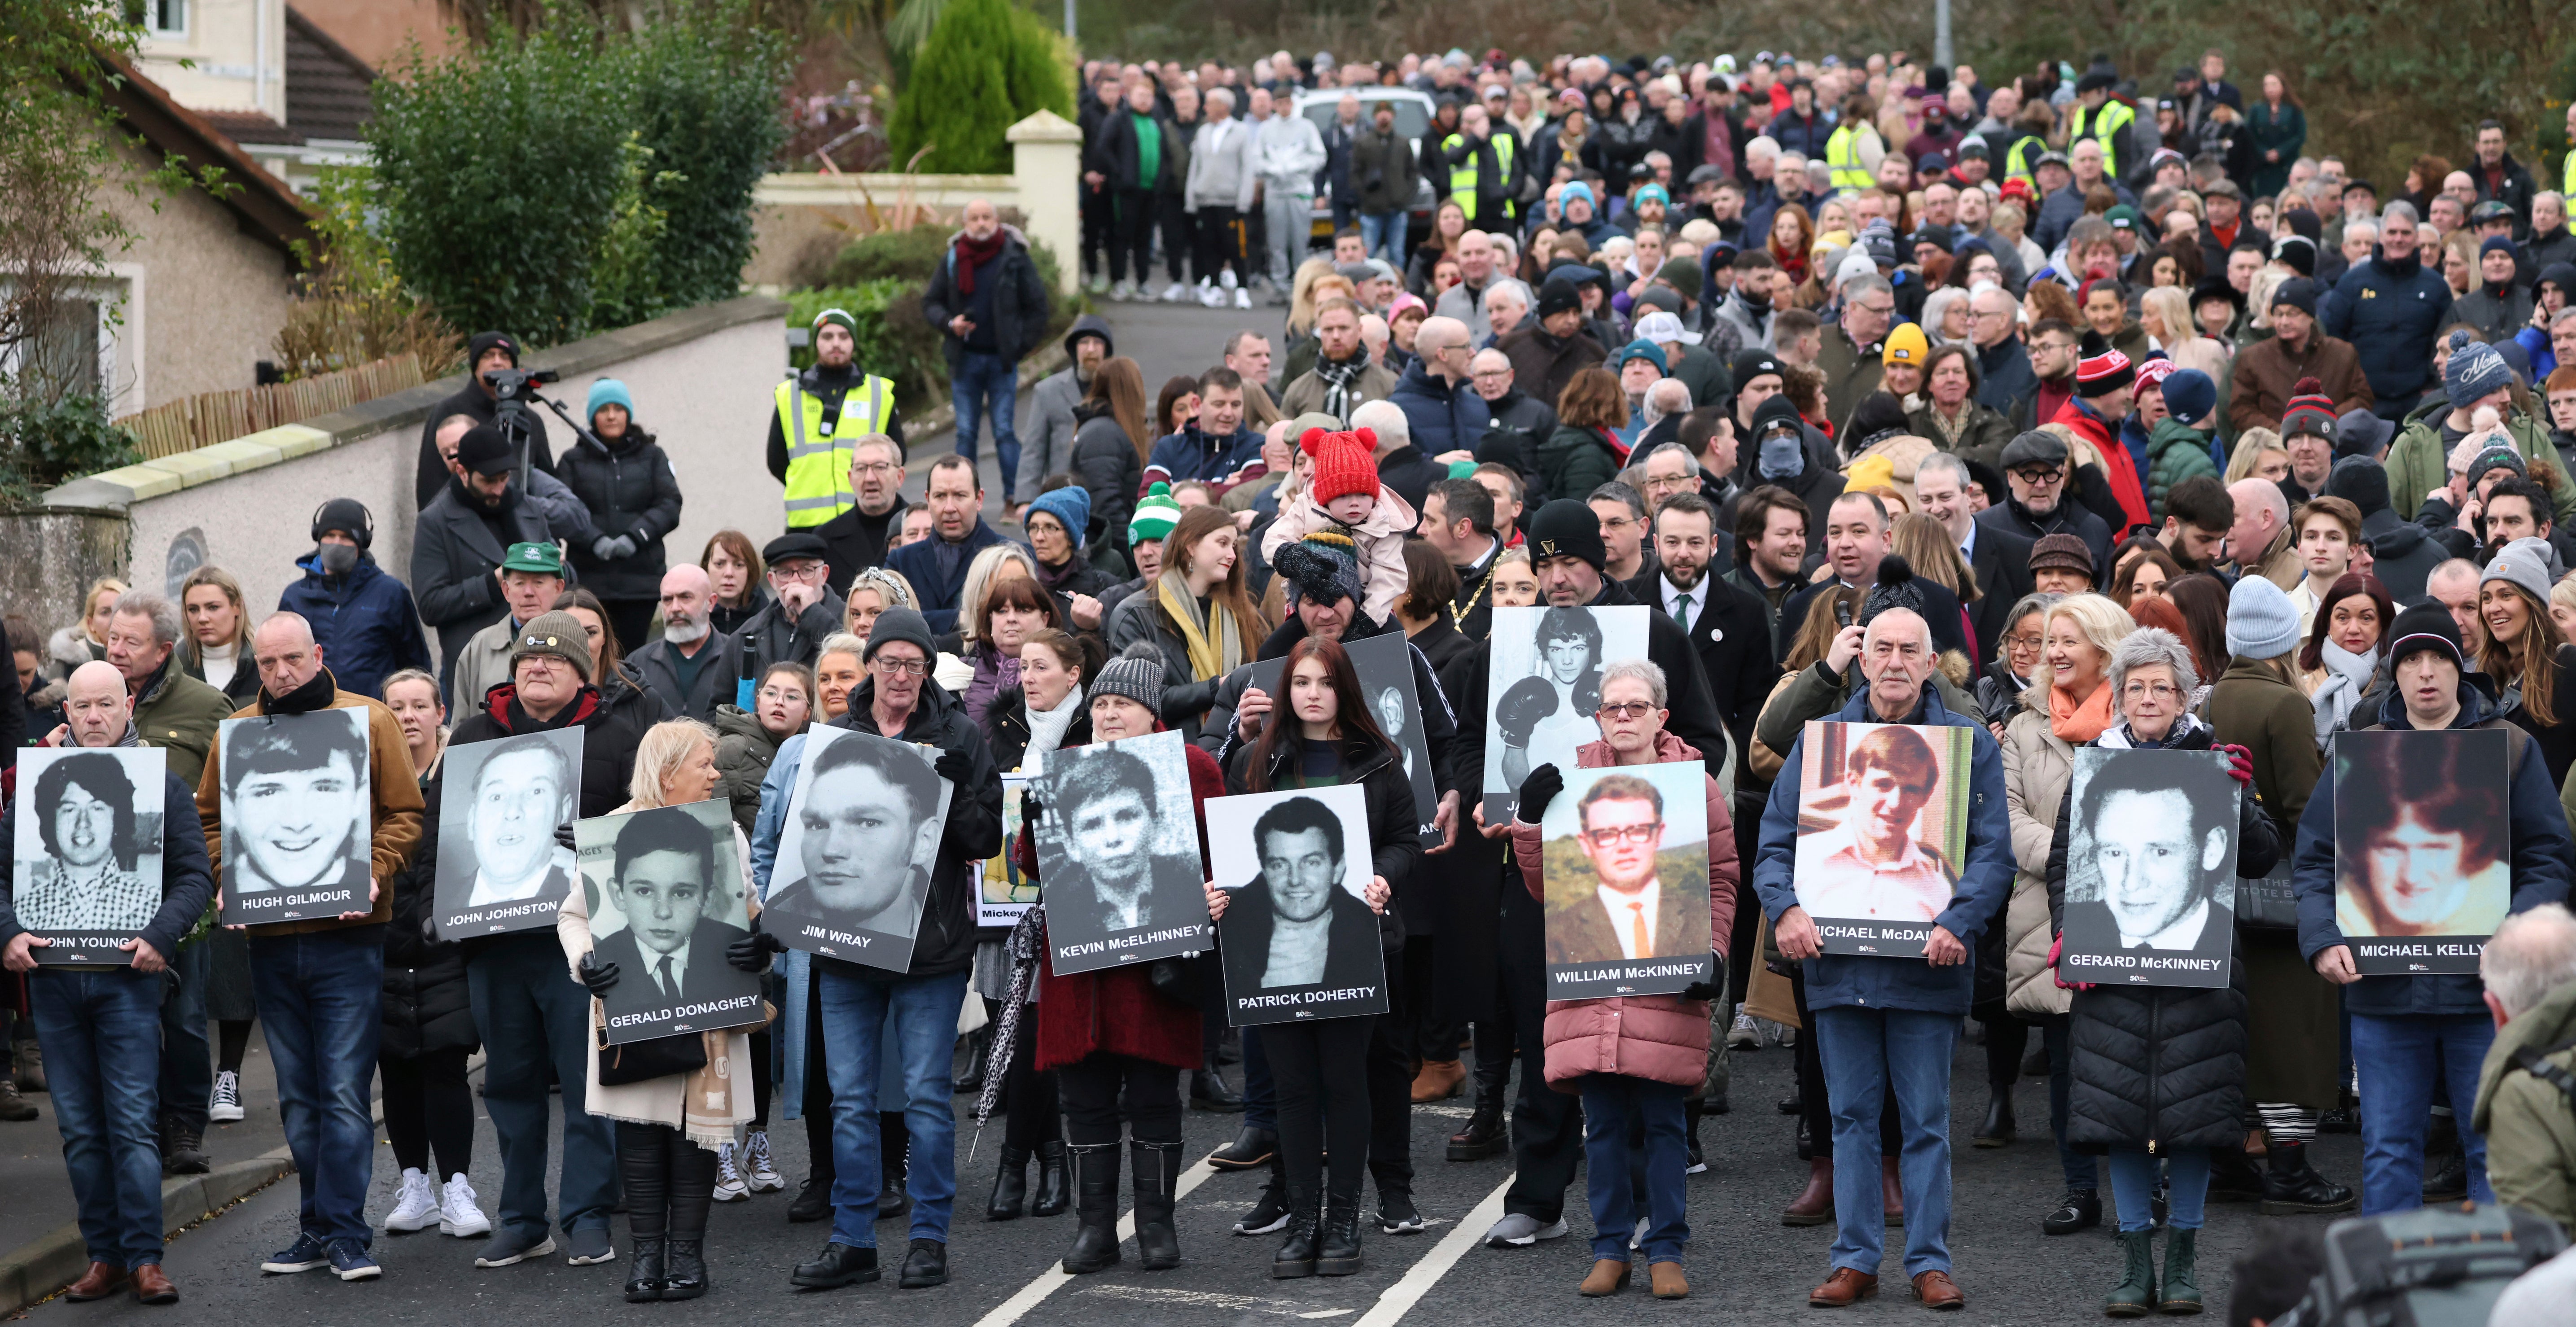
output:
[[[832,1077],[832,1234],[822,1252],[799,1263],[788,1278],[799,1288],[837,1288],[876,1281],[876,1196],[889,1172],[907,1175],[912,1196],[912,1245],[902,1263],[902,1286],[922,1288],[948,1281],[948,1219],[956,1198],[956,1108],[948,1093],[948,1056],[956,1046],[956,1010],[966,1000],[974,966],[974,879],[976,863],[1002,848],[1002,776],[984,734],[966,716],[930,667],[938,642],[930,624],[912,608],[886,608],[868,631],[868,675],[850,693],[850,709],[832,721],[873,737],[935,747],[930,763],[948,786],[948,822],[933,853],[930,879],[920,889],[912,953],[902,966],[894,956],[878,964],[860,959],[811,959],[814,1010],[822,1023],[824,1067]],[[762,817],[752,827],[752,876],[768,894],[778,837],[786,822],[788,788],[806,760],[809,734],[788,737],[762,778]],[[860,750],[835,742],[817,758],[824,768],[858,770]],[[824,768],[817,770],[817,781]],[[773,799],[775,796],[775,812]],[[917,807],[927,814],[927,807]],[[806,814],[814,814],[809,809]],[[837,871],[806,840],[801,876]],[[822,866],[822,871],[817,871]],[[889,938],[891,940],[891,938]],[[896,1077],[902,1100],[878,1100],[878,1046],[899,1046],[904,1062]],[[902,1113],[907,1152],[886,1154],[878,1111]]]

